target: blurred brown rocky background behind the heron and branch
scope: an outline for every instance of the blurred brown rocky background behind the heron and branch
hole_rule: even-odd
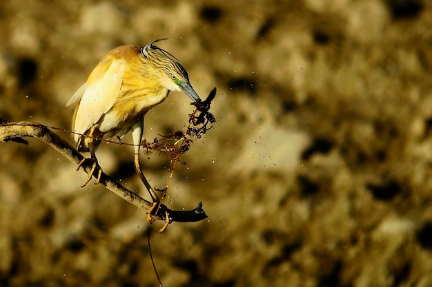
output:
[[[70,128],[66,102],[106,52],[159,47],[217,124],[152,226],[164,286],[432,286],[432,5],[427,0],[0,3],[0,117]],[[187,125],[172,93],[146,138]],[[69,134],[56,131],[63,138]],[[126,138],[126,140],[130,138]],[[37,140],[0,145],[0,286],[157,286],[146,214]],[[148,198],[132,148],[104,171]],[[142,157],[164,187],[168,160]]]

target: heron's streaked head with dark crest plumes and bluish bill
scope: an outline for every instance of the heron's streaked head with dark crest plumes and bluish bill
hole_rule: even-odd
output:
[[[162,85],[170,91],[184,92],[194,102],[201,100],[189,82],[188,72],[175,59],[175,56],[153,45],[153,43],[165,39],[158,39],[142,48],[141,54],[155,69],[155,74]]]

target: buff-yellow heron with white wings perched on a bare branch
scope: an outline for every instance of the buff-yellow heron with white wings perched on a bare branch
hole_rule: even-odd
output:
[[[170,91],[184,92],[194,102],[200,101],[184,67],[173,55],[154,45],[161,40],[164,39],[145,47],[124,45],[111,50],[68,101],[67,105],[78,101],[72,119],[77,149],[89,151],[93,161],[92,171],[83,186],[96,169],[99,169],[97,183],[101,178],[102,170],[95,156],[100,139],[106,134],[121,137],[132,131],[135,170],[153,201],[157,201],[139,163],[144,116],[149,109],[162,103]]]

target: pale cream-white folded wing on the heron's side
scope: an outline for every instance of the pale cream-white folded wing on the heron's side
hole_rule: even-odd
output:
[[[79,142],[79,134],[85,134],[112,108],[125,71],[125,61],[115,59],[112,53],[108,53],[88,76],[87,82],[70,98],[68,105],[79,100],[72,125],[78,133],[74,135],[76,143]]]

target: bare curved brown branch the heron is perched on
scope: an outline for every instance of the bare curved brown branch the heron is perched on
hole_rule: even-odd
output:
[[[81,153],[66,142],[66,140],[57,136],[57,134],[44,125],[33,122],[3,122],[0,124],[0,142],[8,142],[9,140],[17,141],[26,136],[37,138],[38,140],[45,142],[74,164],[79,164],[79,162],[84,158],[84,156],[81,156]],[[92,169],[92,163],[84,162],[82,167],[86,173],[89,173]],[[113,181],[105,173],[102,173],[100,183],[104,184],[108,190],[119,195],[119,197],[131,204],[134,204],[139,209],[144,209],[147,213],[152,207],[151,202],[144,200],[144,198],[141,198],[134,192],[124,188],[121,184]],[[167,215],[170,222],[197,222],[204,220],[207,217],[206,213],[202,209],[201,202],[199,202],[197,207],[191,211],[171,211],[164,204],[161,204],[156,214],[157,219],[166,221]]]

